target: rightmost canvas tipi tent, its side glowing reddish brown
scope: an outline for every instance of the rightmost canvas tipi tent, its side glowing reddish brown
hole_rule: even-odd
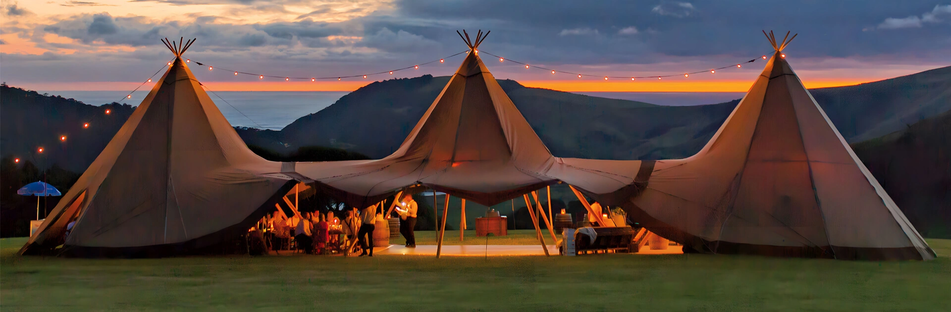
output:
[[[767,37],[747,95],[696,155],[654,164],[631,219],[700,252],[934,259],[789,67],[792,39]]]

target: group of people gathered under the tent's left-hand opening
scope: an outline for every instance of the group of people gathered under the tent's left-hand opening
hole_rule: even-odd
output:
[[[405,194],[396,203],[395,209],[399,215],[399,233],[406,239],[405,246],[416,247],[414,228],[417,221],[418,206],[412,194]],[[373,231],[376,229],[378,205],[369,205],[362,210],[356,207],[345,210],[346,216],[342,221],[334,215],[334,211],[322,213],[302,212],[291,217],[285,217],[281,211],[266,215],[251,230],[262,232],[264,244],[270,250],[285,250],[290,247],[291,238],[298,249],[307,254],[332,254],[342,252],[346,242],[359,242],[359,254],[373,257]],[[342,243],[342,244],[341,244]]]

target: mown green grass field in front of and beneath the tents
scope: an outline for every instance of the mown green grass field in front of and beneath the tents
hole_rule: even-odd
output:
[[[420,234],[423,244],[427,233]],[[447,244],[457,243],[455,234],[451,240],[446,233]],[[516,234],[513,241],[534,240],[534,231]],[[499,241],[490,244],[502,243],[493,239]],[[488,260],[15,256],[24,242],[0,240],[4,311],[871,311],[951,305],[951,240],[928,241],[938,260],[885,263],[696,254]]]

